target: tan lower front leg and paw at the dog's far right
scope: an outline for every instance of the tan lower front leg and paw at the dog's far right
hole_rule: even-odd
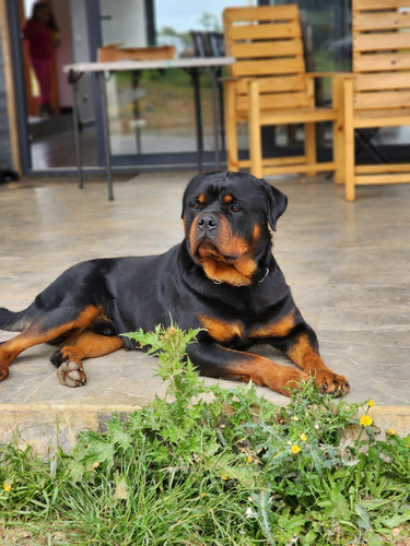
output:
[[[349,392],[349,381],[326,366],[321,356],[312,346],[307,334],[296,339],[286,356],[312,376],[323,392],[337,395]]]

